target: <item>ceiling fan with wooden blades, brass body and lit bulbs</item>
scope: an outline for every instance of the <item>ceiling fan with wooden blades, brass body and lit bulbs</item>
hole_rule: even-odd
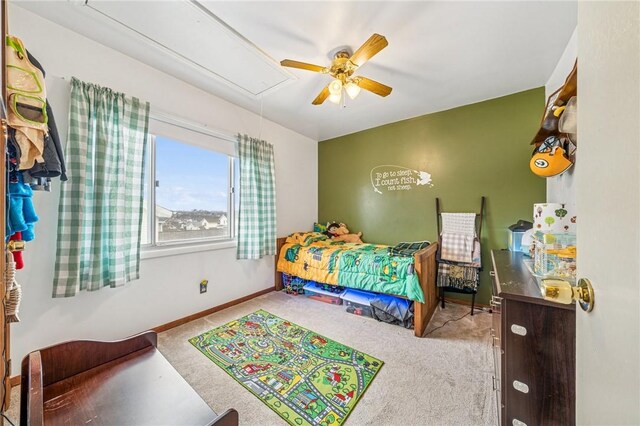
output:
[[[280,65],[283,67],[299,68],[329,74],[334,78],[313,100],[313,105],[320,105],[327,98],[335,104],[340,103],[343,89],[351,99],[355,99],[356,96],[358,96],[360,89],[368,90],[371,93],[384,97],[391,93],[391,87],[366,77],[354,76],[353,73],[374,55],[387,47],[388,44],[384,36],[374,34],[369,37],[369,40],[360,46],[353,55],[350,55],[347,50],[337,52],[329,67],[292,61],[291,59],[281,61]]]

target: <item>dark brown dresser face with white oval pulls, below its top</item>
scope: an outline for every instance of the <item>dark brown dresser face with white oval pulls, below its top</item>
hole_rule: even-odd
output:
[[[503,315],[504,424],[574,424],[573,312],[508,300]]]

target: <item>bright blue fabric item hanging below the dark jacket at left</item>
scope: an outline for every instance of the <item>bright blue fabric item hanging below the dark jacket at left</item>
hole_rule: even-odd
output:
[[[24,183],[22,173],[17,173],[17,182],[9,183],[7,193],[7,237],[22,231],[22,240],[31,241],[35,238],[34,224],[38,216],[33,208],[33,190]]]

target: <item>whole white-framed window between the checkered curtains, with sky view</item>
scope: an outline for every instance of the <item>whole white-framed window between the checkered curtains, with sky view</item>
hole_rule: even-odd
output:
[[[166,123],[152,123],[151,130],[141,244],[151,248],[233,239],[238,161],[229,146],[227,152],[216,149],[232,144]]]

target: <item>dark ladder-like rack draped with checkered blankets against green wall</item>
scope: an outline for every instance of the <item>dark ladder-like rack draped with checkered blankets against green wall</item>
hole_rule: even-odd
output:
[[[445,292],[471,294],[471,315],[475,309],[476,294],[480,285],[480,272],[482,265],[480,261],[480,237],[482,234],[482,221],[484,217],[485,197],[480,198],[480,211],[478,213],[445,213],[441,209],[440,199],[436,198],[436,223],[438,227],[438,273],[437,286],[439,289],[439,298],[442,308],[445,307]],[[466,237],[459,234],[447,235],[447,226],[443,220],[443,214],[460,215],[461,220],[467,219],[472,221],[471,228],[473,235]],[[471,217],[470,215],[475,215]],[[444,234],[444,235],[443,235]],[[468,242],[472,241],[471,247]],[[467,256],[468,259],[457,258],[456,255]],[[464,254],[463,254],[464,252]],[[444,254],[444,258],[443,258]],[[447,285],[455,282],[456,285]]]

